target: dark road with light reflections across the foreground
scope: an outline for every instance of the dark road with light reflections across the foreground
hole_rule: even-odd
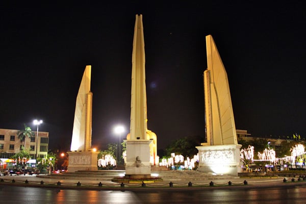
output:
[[[304,203],[305,186],[258,189],[58,190],[0,186],[1,203]]]

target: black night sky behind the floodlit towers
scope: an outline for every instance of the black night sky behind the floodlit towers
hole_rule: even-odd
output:
[[[209,34],[227,71],[236,129],[306,137],[303,1],[8,2],[0,3],[0,128],[36,130],[33,119],[42,119],[49,148],[69,149],[75,99],[91,65],[92,144],[118,142],[114,125],[124,125],[124,135],[130,129],[135,15],[142,14],[148,129],[158,149],[205,135]]]

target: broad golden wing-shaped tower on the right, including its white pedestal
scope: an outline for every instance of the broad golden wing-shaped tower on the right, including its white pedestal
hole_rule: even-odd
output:
[[[211,35],[206,36],[207,64],[204,94],[207,142],[197,146],[199,171],[238,175],[240,147],[227,74]]]

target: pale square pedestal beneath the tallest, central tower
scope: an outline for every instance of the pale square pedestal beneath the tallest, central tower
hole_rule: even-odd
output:
[[[142,179],[151,176],[150,143],[151,140],[125,140],[126,164],[125,177]]]

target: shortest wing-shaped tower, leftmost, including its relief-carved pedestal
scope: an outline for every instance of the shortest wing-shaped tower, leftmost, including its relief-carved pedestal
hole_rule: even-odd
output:
[[[91,149],[92,92],[90,91],[91,66],[85,68],[77,101],[75,102],[71,147],[68,152],[68,171],[98,170],[97,155]]]

